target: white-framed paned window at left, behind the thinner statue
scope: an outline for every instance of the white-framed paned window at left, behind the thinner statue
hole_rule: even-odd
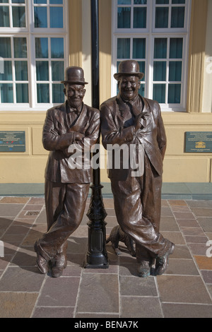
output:
[[[0,1],[1,110],[46,110],[64,102],[66,2]]]

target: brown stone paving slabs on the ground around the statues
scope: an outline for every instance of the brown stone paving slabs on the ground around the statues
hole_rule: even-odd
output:
[[[109,235],[117,221],[112,199],[104,203]],[[206,256],[212,201],[163,200],[160,231],[176,249],[164,275],[145,279],[137,277],[136,259],[122,243],[119,257],[107,244],[108,269],[84,269],[87,221],[69,238],[64,275],[51,278],[39,273],[33,251],[46,230],[44,198],[0,197],[0,317],[212,316],[212,258]]]

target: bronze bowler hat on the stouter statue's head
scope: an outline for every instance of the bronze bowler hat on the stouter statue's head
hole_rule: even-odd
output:
[[[128,76],[137,76],[143,78],[144,73],[140,73],[139,63],[135,60],[124,60],[119,64],[119,72],[114,73],[114,78],[119,80],[121,76],[128,75]]]

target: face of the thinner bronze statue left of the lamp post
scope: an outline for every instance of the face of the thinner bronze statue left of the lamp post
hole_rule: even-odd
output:
[[[64,93],[69,102],[69,106],[72,108],[78,108],[83,102],[83,97],[86,94],[86,89],[84,88],[84,85],[81,84],[73,85],[66,83]]]

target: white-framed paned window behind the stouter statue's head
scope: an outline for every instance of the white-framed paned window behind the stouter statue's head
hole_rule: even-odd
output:
[[[185,110],[190,0],[115,0],[113,74],[135,59],[144,73],[139,93],[163,110]]]

